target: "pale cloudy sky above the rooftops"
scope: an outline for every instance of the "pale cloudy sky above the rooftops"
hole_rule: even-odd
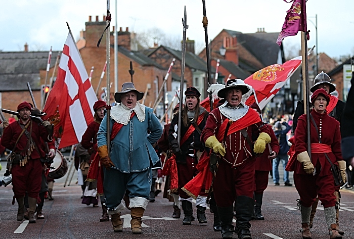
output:
[[[112,25],[115,25],[115,1],[111,0]],[[187,7],[187,36],[196,44],[205,41],[202,26],[202,0],[129,0],[117,1],[118,27],[141,32],[153,27],[166,34],[181,36],[184,6]],[[67,37],[66,21],[76,38],[85,28],[89,16],[106,15],[105,0],[2,0],[0,8],[0,50],[29,51],[62,50]],[[206,0],[209,39],[223,28],[254,33],[257,28],[280,32],[291,3],[283,0]],[[308,0],[307,24],[310,32],[308,46],[316,42],[315,15],[318,15],[318,51],[330,57],[354,55],[353,0]],[[300,49],[300,34],[284,40],[286,49]]]

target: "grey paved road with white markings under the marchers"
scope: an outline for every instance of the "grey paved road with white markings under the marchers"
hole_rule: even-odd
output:
[[[3,162],[4,163],[4,162]],[[3,164],[4,165],[4,164]],[[3,175],[5,171],[0,171]],[[2,177],[1,177],[2,178]],[[45,202],[45,220],[35,224],[16,221],[17,203],[11,205],[12,186],[0,187],[0,235],[1,238],[221,238],[212,230],[212,214],[207,210],[208,223],[182,225],[182,219],[172,219],[172,203],[162,199],[149,203],[143,219],[143,234],[132,235],[129,228],[129,211],[122,212],[127,228],[114,233],[110,222],[100,222],[101,207],[81,204],[81,188],[74,177],[70,186],[63,187],[64,178],[54,186],[54,201]],[[354,238],[354,190],[342,190],[340,223],[345,230],[343,238]],[[227,197],[227,195],[226,195]],[[252,238],[302,238],[299,232],[300,212],[296,209],[298,194],[295,187],[274,186],[270,178],[264,192],[264,221],[252,221]],[[323,207],[319,205],[312,229],[314,239],[329,238]],[[322,210],[321,210],[322,209]],[[194,215],[196,209],[194,208]],[[234,238],[237,235],[234,234]]]

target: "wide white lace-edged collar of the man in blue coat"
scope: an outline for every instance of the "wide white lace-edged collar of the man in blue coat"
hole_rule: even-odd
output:
[[[117,123],[127,125],[133,111],[135,111],[140,122],[145,120],[145,106],[139,102],[137,102],[137,105],[131,110],[123,104],[113,106],[111,109],[111,118]]]

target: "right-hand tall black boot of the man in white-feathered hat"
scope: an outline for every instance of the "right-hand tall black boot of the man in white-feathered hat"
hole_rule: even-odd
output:
[[[247,196],[238,196],[236,198],[236,230],[239,239],[251,239],[249,228],[251,224],[252,211],[254,207],[254,199]]]

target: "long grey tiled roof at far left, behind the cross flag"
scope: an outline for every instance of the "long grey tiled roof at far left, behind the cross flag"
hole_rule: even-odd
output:
[[[40,90],[39,70],[47,68],[49,52],[0,52],[0,91]],[[58,52],[52,52],[54,67]]]

